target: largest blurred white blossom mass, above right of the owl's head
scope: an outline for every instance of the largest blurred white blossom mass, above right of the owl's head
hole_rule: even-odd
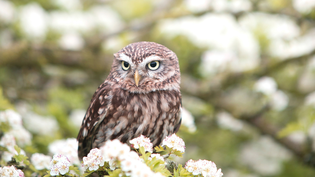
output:
[[[211,27],[208,24],[211,24]],[[211,68],[217,66],[215,73],[224,69],[233,72],[249,71],[259,65],[258,41],[253,33],[242,28],[231,14],[207,13],[200,17],[164,19],[160,21],[158,27],[165,37],[184,35],[196,46],[211,49],[215,55],[224,59],[223,62],[210,58],[202,60],[200,73],[204,76],[213,74],[208,68],[202,66],[209,62],[208,59],[213,64]],[[232,63],[228,63],[229,65],[225,68],[223,64],[228,61]]]

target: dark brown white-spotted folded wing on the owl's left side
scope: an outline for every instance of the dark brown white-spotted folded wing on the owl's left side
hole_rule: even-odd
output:
[[[106,117],[107,108],[110,104],[110,96],[108,96],[108,93],[109,87],[107,83],[100,85],[95,91],[89,109],[85,114],[81,129],[77,136],[78,155],[81,160],[84,156],[87,156],[92,149],[95,132]]]

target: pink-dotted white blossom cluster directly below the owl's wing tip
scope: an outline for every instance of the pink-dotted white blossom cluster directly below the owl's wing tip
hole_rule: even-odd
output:
[[[104,166],[104,159],[101,156],[101,151],[97,148],[91,149],[88,157],[83,157],[82,166],[86,169],[97,170],[99,166]]]

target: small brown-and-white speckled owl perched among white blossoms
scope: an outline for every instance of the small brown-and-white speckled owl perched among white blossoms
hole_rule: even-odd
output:
[[[180,69],[174,52],[153,42],[132,43],[114,54],[77,136],[82,160],[107,140],[129,143],[141,134],[153,146],[181,123]]]

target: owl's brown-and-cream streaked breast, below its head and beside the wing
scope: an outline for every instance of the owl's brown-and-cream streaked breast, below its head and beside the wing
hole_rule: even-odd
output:
[[[165,136],[173,133],[179,121],[180,107],[179,92],[136,94],[118,90],[112,97],[95,141],[102,144],[106,140],[119,139],[129,143],[143,134],[157,146]]]

